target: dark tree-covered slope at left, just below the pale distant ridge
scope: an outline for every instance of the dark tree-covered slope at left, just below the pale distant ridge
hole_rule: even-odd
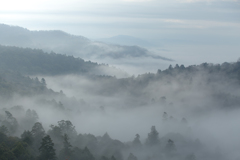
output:
[[[0,69],[13,70],[25,75],[104,74],[104,69],[121,72],[107,65],[99,65],[73,56],[1,45]]]

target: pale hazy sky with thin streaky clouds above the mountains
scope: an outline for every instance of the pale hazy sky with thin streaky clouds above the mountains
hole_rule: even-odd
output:
[[[185,64],[240,57],[240,0],[8,0],[0,23],[91,39],[135,36]]]

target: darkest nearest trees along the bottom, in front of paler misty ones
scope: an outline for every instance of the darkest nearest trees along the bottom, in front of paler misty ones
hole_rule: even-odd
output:
[[[42,124],[36,122],[32,129],[24,131],[21,137],[12,137],[7,135],[2,129],[0,130],[0,157],[2,160],[123,160],[123,152],[130,152],[133,148],[135,151],[143,151],[143,149],[152,149],[159,147],[161,154],[174,156],[176,154],[176,146],[169,139],[164,150],[160,148],[158,132],[152,126],[151,132],[148,134],[146,144],[143,145],[139,140],[139,135],[126,145],[118,140],[112,140],[109,135],[95,137],[90,134],[79,134],[68,136],[64,132],[73,134],[74,127],[70,121],[59,121],[58,126],[51,126],[51,129],[45,133]],[[64,123],[64,124],[63,124]],[[61,126],[63,125],[63,126]],[[3,128],[5,126],[2,126]],[[64,127],[64,128],[61,128]],[[76,142],[70,139],[74,139]],[[80,143],[80,144],[79,144]],[[74,144],[74,147],[73,145]],[[85,147],[82,147],[86,145]],[[101,145],[101,146],[100,146]],[[81,148],[80,148],[81,147]],[[90,147],[91,149],[89,149]],[[129,148],[130,147],[130,148]],[[149,148],[144,148],[149,147]],[[156,155],[155,155],[156,156]],[[158,155],[157,155],[158,156]],[[187,155],[189,156],[189,155]],[[187,157],[186,156],[186,157]],[[146,158],[146,157],[145,157]],[[148,157],[149,158],[149,157]],[[157,158],[157,157],[155,157]],[[153,158],[153,159],[155,159]],[[137,160],[138,158],[129,153],[127,160]],[[186,158],[186,160],[194,160],[194,158]]]

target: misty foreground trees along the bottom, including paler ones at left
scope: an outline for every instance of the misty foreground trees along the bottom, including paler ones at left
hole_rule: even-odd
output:
[[[163,114],[164,121],[167,121],[166,114]],[[176,139],[183,141],[183,137],[172,134],[160,138],[155,126],[151,127],[145,142],[141,142],[139,134],[133,141],[121,142],[112,139],[108,133],[103,136],[79,134],[69,120],[58,121],[46,131],[38,122],[36,111],[30,109],[23,120],[17,120],[7,110],[0,118],[1,160],[195,160],[193,153],[185,153],[184,150],[186,147],[202,149],[199,142],[190,143],[190,140],[181,144],[185,145],[185,148],[182,146],[184,149],[178,148],[173,139],[180,137]],[[29,128],[31,124],[32,128]],[[22,128],[24,131],[17,137],[16,133]]]

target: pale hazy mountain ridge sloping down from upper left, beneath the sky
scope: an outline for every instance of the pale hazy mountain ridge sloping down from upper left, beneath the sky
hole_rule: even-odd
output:
[[[0,44],[17,47],[43,49],[46,52],[90,58],[151,57],[172,61],[169,58],[150,53],[138,46],[121,46],[93,42],[83,36],[74,36],[63,31],[30,31],[17,26],[0,24]]]

